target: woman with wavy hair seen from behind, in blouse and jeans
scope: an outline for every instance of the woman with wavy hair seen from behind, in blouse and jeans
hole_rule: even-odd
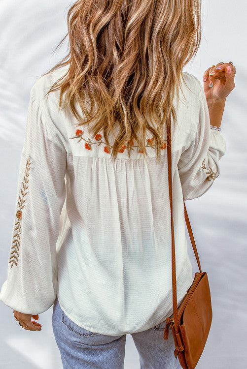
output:
[[[166,127],[179,305],[194,277],[183,199],[219,175],[236,69],[212,65],[203,87],[182,72],[200,45],[200,0],[80,0],[68,26],[69,54],[31,89],[0,300],[31,331],[53,305],[64,368],[123,368],[128,333],[142,369],[180,368],[172,334],[163,339],[173,313]]]

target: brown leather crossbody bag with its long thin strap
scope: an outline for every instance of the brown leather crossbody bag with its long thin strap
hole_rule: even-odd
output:
[[[168,317],[166,319],[167,324],[164,331],[164,339],[168,338],[169,326],[171,324],[176,347],[174,351],[175,357],[178,358],[179,363],[183,369],[194,369],[204,350],[204,346],[207,341],[211,327],[211,295],[208,276],[206,272],[202,272],[201,270],[193,233],[191,230],[185,203],[183,201],[185,221],[200,273],[195,273],[192,285],[187,290],[186,295],[181,301],[179,307],[177,307],[171,151],[171,126],[169,123],[167,127],[167,154],[172,226],[173,317]]]

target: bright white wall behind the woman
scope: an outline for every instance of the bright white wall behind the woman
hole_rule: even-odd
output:
[[[37,75],[67,54],[67,42],[53,51],[67,32],[71,4],[68,0],[0,1],[0,284],[7,276],[30,89]],[[197,369],[247,368],[246,11],[245,0],[203,1],[201,46],[184,69],[202,81],[212,64],[232,61],[236,66],[236,87],[227,97],[221,123],[226,154],[220,176],[205,195],[186,201],[202,270],[208,273],[213,309]],[[196,273],[188,234],[187,240]],[[39,315],[41,333],[26,331],[15,321],[13,310],[1,303],[0,368],[62,369],[51,318],[52,307]],[[127,335],[124,368],[140,368],[131,335]]]

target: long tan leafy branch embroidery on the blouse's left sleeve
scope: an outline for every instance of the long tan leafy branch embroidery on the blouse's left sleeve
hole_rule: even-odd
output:
[[[26,164],[26,171],[25,171],[26,176],[24,176],[24,181],[22,182],[22,188],[21,188],[22,197],[19,196],[20,201],[18,201],[19,210],[17,210],[17,212],[15,214],[18,221],[15,223],[16,228],[14,228],[14,231],[16,231],[16,234],[13,236],[13,238],[16,237],[16,239],[13,240],[13,246],[11,247],[11,249],[13,248],[13,251],[10,253],[10,255],[12,255],[12,256],[9,257],[9,262],[8,262],[8,264],[12,263],[10,268],[12,268],[14,263],[17,266],[17,262],[18,262],[18,257],[19,257],[18,251],[20,252],[19,246],[20,246],[20,233],[21,233],[21,223],[20,222],[21,222],[21,218],[22,218],[22,209],[24,208],[24,203],[26,201],[26,200],[24,200],[24,197],[28,193],[27,192],[27,189],[28,189],[28,176],[29,176],[29,170],[30,170],[30,165],[31,164],[32,164],[32,161],[30,161],[30,158],[28,158],[27,159],[27,164]]]

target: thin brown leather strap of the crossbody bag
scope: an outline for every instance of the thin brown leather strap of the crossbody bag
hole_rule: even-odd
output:
[[[172,149],[171,149],[171,118],[169,119],[169,123],[167,126],[167,158],[168,158],[168,183],[169,183],[169,197],[170,197],[170,207],[171,207],[171,228],[172,228],[172,284],[173,284],[173,316],[174,316],[174,325],[175,331],[178,333],[178,313],[177,313],[177,297],[176,297],[176,260],[175,260],[175,241],[174,241],[174,224],[173,224],[173,195],[172,195]],[[192,229],[189,222],[189,217],[187,214],[187,210],[184,205],[184,217],[187,225],[187,229],[189,232],[189,237],[191,244],[193,246],[193,250],[196,256],[197,264],[202,273],[201,265],[197,253],[197,248],[194,240],[194,236],[192,233]]]

